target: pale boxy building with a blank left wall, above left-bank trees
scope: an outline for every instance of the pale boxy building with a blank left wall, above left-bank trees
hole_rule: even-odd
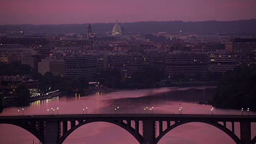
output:
[[[52,72],[53,75],[64,76],[64,66],[64,60],[57,60],[55,57],[42,59],[38,62],[38,72],[42,75]]]

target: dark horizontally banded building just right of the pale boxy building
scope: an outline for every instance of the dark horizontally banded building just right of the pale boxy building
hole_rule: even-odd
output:
[[[90,79],[97,72],[97,56],[77,54],[66,57],[64,61],[66,77],[76,79],[79,75],[83,74]]]

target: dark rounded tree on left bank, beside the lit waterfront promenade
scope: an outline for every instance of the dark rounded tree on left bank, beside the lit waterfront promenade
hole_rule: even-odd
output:
[[[29,104],[30,92],[26,84],[20,84],[15,89],[15,99],[17,106],[26,106]]]

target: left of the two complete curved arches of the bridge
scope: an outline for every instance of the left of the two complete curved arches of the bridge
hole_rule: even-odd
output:
[[[132,136],[134,136],[134,138],[139,142],[142,143],[143,138],[140,134],[136,134],[134,128],[132,127],[128,127],[127,124],[123,123],[123,122],[119,122],[118,120],[94,120],[94,121],[90,121],[90,120],[86,120],[86,121],[78,121],[79,124],[77,124],[76,126],[70,128],[70,130],[68,130],[67,132],[65,132],[56,142],[56,144],[62,144],[64,142],[64,140],[72,133],[74,132],[74,130],[76,130],[77,128],[79,128],[80,126],[83,126],[85,124],[89,124],[89,123],[93,123],[93,122],[107,122],[110,124],[114,124],[117,126],[120,126],[121,128],[123,128],[124,130],[128,131],[130,134],[132,134]]]

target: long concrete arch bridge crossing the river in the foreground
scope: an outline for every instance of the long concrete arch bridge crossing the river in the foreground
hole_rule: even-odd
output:
[[[70,129],[68,129],[70,122]],[[0,116],[0,124],[12,124],[24,128],[42,144],[62,144],[77,128],[91,122],[109,122],[127,130],[140,144],[157,144],[170,130],[189,122],[202,122],[219,128],[236,144],[255,144],[251,138],[251,123],[256,116],[245,115],[198,115],[198,114],[65,114],[36,116]],[[156,122],[159,127],[156,128]],[[226,127],[231,122],[232,130]],[[240,138],[236,136],[234,123],[240,124]],[[163,123],[167,128],[163,129]],[[134,126],[132,126],[134,125]],[[142,134],[139,132],[142,128]],[[156,136],[156,130],[159,135]]]

